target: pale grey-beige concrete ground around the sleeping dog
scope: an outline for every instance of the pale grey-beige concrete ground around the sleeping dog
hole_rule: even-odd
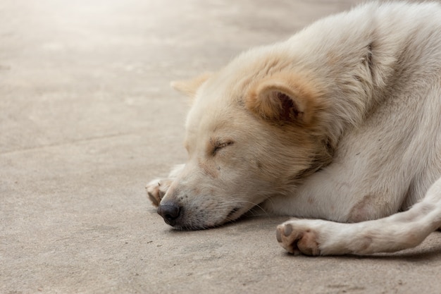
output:
[[[185,160],[170,80],[352,1],[1,0],[0,293],[440,293],[441,233],[293,257],[283,218],[173,231],[144,184]]]

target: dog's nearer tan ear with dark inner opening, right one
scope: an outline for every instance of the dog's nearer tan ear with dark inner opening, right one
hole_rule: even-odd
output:
[[[278,73],[255,82],[247,95],[246,105],[264,119],[307,125],[317,110],[319,94],[306,78]]]

